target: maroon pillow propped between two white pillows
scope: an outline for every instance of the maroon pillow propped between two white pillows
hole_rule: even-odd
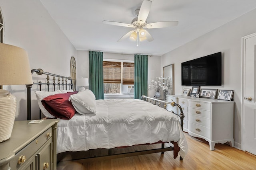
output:
[[[70,95],[77,93],[78,91],[47,96],[42,100],[42,105],[55,117],[60,119],[71,119],[76,113],[76,110],[72,103],[68,101],[68,98]]]

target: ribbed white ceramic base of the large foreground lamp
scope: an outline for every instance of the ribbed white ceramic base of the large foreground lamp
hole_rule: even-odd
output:
[[[0,89],[0,143],[10,139],[16,114],[16,98]]]

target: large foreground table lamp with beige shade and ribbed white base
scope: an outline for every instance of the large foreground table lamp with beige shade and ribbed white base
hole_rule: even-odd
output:
[[[0,85],[33,84],[27,52],[0,43]],[[16,98],[0,89],[0,143],[10,139],[16,114]]]

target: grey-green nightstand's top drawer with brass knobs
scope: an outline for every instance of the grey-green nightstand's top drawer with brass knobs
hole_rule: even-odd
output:
[[[31,125],[33,126],[33,124]],[[47,129],[42,135],[38,136],[34,141],[29,143],[26,147],[24,147],[20,152],[15,154],[14,159],[10,161],[10,167],[11,169],[18,169],[23,164],[26,163],[26,161],[34,154],[46,141],[52,139],[52,127]],[[25,156],[25,157],[24,157]],[[18,160],[24,160],[24,162],[18,162]]]

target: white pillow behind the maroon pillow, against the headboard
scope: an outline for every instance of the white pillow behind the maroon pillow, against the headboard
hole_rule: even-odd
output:
[[[42,101],[45,97],[47,97],[47,96],[51,96],[51,95],[58,94],[58,93],[63,93],[63,92],[61,92],[60,90],[56,90],[55,92],[35,91],[36,99],[37,99],[37,102],[38,102],[38,106],[39,106],[39,108],[41,109],[42,113],[43,113],[46,117],[54,118],[54,116],[51,115],[51,114],[44,108],[44,106],[42,105],[42,102],[41,102],[41,101]]]

